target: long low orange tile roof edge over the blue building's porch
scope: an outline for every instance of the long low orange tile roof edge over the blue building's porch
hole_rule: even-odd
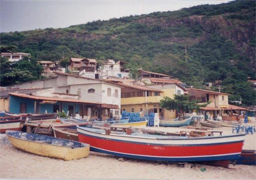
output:
[[[79,99],[66,99],[66,98],[56,98],[56,97],[35,96],[35,95],[27,95],[27,94],[21,94],[21,93],[9,93],[9,95],[13,95],[16,97],[28,98],[28,99],[36,99],[36,100],[52,100],[52,101],[61,101],[61,102],[76,102],[76,103],[99,104],[99,105],[102,104],[99,102],[89,102],[89,101],[79,100]]]

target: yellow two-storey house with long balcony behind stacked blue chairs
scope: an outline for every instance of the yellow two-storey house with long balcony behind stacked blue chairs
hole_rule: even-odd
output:
[[[164,119],[176,118],[175,110],[167,111],[160,107],[160,100],[164,96],[173,97],[174,94],[183,94],[186,90],[178,84],[137,86],[121,85],[121,108],[122,111],[140,112],[141,116],[157,112]]]

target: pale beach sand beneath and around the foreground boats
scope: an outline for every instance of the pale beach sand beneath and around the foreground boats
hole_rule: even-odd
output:
[[[150,128],[176,132],[181,128]],[[231,134],[232,128],[219,128]],[[230,169],[127,159],[90,152],[83,159],[63,161],[37,156],[10,145],[5,134],[0,135],[0,178],[104,178],[104,179],[256,179],[256,166],[230,165]],[[243,149],[256,149],[256,134],[247,135]],[[200,171],[205,167],[206,171]]]

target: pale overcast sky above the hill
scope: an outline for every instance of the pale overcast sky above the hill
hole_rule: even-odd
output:
[[[64,28],[93,20],[229,0],[0,0],[0,32]]]

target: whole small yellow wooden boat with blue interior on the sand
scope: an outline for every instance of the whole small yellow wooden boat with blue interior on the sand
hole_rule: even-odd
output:
[[[10,130],[7,130],[6,134],[14,147],[41,156],[68,161],[89,154],[90,145],[77,141]]]

